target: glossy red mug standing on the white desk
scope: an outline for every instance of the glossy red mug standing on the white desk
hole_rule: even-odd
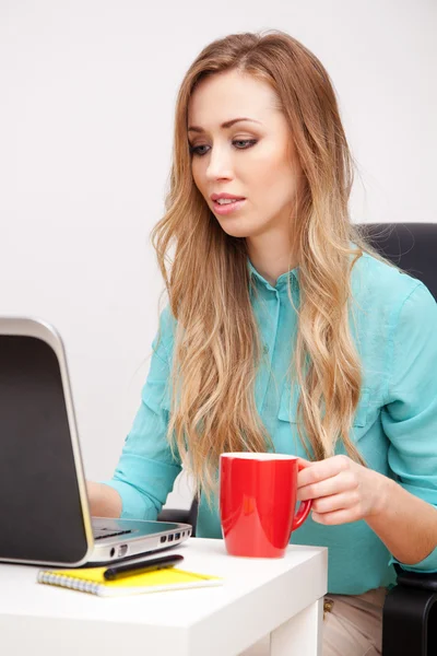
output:
[[[229,453],[220,457],[220,518],[231,555],[282,558],[312,501],[295,513],[298,460],[285,454]]]

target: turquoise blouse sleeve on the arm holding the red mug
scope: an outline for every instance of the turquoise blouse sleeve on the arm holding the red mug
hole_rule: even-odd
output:
[[[437,305],[417,283],[399,309],[389,349],[391,375],[382,427],[398,483],[437,507]],[[436,513],[437,522],[437,513]],[[402,569],[437,572],[437,547]]]

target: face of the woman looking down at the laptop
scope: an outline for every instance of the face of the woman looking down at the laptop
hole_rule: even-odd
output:
[[[188,128],[194,183],[222,229],[287,241],[300,169],[271,86],[238,71],[206,78],[190,99]]]

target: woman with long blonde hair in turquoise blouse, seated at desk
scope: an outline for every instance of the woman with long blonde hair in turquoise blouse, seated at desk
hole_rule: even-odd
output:
[[[114,478],[90,483],[94,515],[154,519],[184,464],[198,536],[221,538],[220,454],[298,455],[315,503],[293,541],[329,548],[324,656],[380,654],[393,562],[437,571],[437,307],[356,233],[351,184],[311,52],[281,32],[203,49],[153,231],[169,304]]]

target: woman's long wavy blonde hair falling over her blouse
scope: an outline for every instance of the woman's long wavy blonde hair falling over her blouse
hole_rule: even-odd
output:
[[[335,94],[320,61],[290,35],[233,34],[206,46],[184,78],[166,213],[152,232],[177,321],[168,440],[208,495],[222,452],[273,447],[255,403],[261,348],[246,241],[222,230],[197,189],[187,134],[188,104],[199,82],[236,69],[275,91],[305,176],[291,226],[299,267],[291,368],[299,388],[300,437],[309,457],[332,455],[340,440],[363,462],[350,438],[362,383],[350,330],[350,280],[368,248],[349,219],[353,167]]]

